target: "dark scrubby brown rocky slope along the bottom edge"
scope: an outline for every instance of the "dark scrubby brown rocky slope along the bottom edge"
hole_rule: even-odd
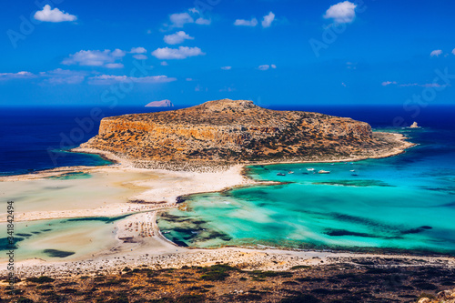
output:
[[[452,303],[455,271],[422,260],[344,258],[284,271],[210,267],[122,268],[75,278],[17,280],[15,302],[420,302]]]

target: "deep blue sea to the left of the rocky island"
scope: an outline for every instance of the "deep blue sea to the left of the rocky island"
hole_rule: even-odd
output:
[[[66,152],[99,127],[98,116],[147,113],[147,107],[0,108],[0,176],[67,166],[102,166],[102,157]]]

